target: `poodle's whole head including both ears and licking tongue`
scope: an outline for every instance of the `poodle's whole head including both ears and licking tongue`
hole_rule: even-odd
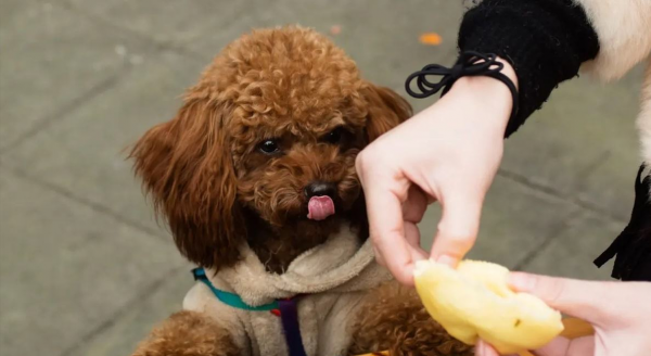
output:
[[[326,37],[259,30],[228,46],[132,156],[181,252],[219,268],[237,262],[251,214],[321,232],[352,219],[357,153],[410,114]]]

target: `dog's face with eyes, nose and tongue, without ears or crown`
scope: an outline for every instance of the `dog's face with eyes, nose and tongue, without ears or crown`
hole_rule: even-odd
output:
[[[239,123],[230,126],[238,200],[276,227],[308,220],[323,227],[345,217],[358,199],[355,157],[367,140],[360,120],[347,116],[359,114],[354,104],[319,98],[319,106],[306,105],[316,100],[296,92],[302,96],[286,106],[240,107],[232,116]]]

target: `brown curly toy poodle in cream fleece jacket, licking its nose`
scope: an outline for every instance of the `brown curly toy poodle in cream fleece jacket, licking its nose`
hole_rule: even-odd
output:
[[[202,269],[138,356],[471,355],[373,257],[357,153],[411,115],[299,28],[235,40],[131,157]]]

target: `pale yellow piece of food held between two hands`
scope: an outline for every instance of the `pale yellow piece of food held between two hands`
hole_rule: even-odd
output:
[[[457,269],[420,260],[413,276],[427,313],[454,338],[477,339],[501,354],[516,354],[549,343],[563,331],[561,314],[538,297],[507,285],[500,265],[462,260]]]

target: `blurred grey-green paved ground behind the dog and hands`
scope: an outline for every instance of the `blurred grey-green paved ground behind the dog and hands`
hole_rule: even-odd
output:
[[[124,149],[173,117],[226,43],[253,27],[311,26],[405,94],[407,75],[454,62],[461,14],[450,0],[2,0],[0,354],[128,355],[180,308],[192,266]],[[610,265],[591,262],[633,206],[640,73],[562,85],[508,140],[472,257],[608,279]],[[424,245],[438,214],[422,224]]]

